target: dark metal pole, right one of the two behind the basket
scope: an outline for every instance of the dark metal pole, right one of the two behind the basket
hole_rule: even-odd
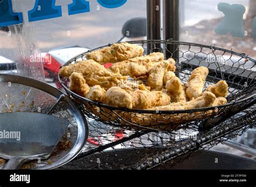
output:
[[[179,41],[179,0],[165,0],[165,40]],[[167,45],[165,56],[166,59],[173,57],[173,59],[179,59],[179,51],[177,51],[178,45]]]

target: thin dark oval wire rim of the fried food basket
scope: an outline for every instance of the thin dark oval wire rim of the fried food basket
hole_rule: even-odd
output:
[[[179,44],[179,45],[188,45],[188,46],[196,46],[196,47],[205,47],[205,48],[209,48],[209,49],[216,49],[219,51],[223,51],[223,52],[227,52],[227,53],[231,53],[231,54],[235,54],[238,55],[240,57],[246,58],[246,59],[250,59],[252,62],[254,62],[256,64],[256,60],[252,59],[251,57],[249,57],[246,54],[240,54],[237,52],[233,52],[227,49],[223,49],[223,48],[219,48],[219,47],[215,47],[215,46],[207,46],[207,45],[201,45],[201,44],[196,44],[196,43],[191,43],[191,42],[183,42],[183,41],[174,41],[174,40],[137,40],[137,41],[126,41],[130,44],[138,44],[138,43],[147,43],[147,42],[159,42],[159,43],[165,43],[165,44]],[[118,44],[121,42],[118,42]],[[78,59],[79,57],[85,56],[85,54],[92,52],[92,51],[96,51],[97,49],[101,49],[103,47],[108,47],[111,46],[112,44],[108,44],[108,45],[104,45],[101,47],[97,47],[97,48],[93,48],[89,51],[83,52],[81,54],[76,55],[75,57],[72,57],[70,60],[68,60],[62,67],[64,66],[68,66],[70,64],[70,62],[75,61],[76,59]],[[60,67],[60,68],[62,68]],[[201,111],[208,111],[208,110],[214,110],[214,109],[220,109],[220,108],[224,108],[227,106],[232,106],[234,104],[239,104],[242,102],[245,102],[249,99],[252,99],[254,97],[256,97],[256,92],[253,93],[251,96],[248,96],[244,99],[240,99],[237,100],[235,102],[231,102],[231,103],[227,103],[225,105],[219,105],[219,106],[210,106],[210,107],[201,107],[198,109],[189,109],[189,110],[143,110],[143,109],[128,109],[128,108],[121,108],[121,107],[115,107],[115,106],[110,106],[101,102],[94,102],[93,100],[87,99],[85,97],[79,96],[77,93],[71,91],[63,82],[62,80],[62,76],[60,76],[60,74],[58,73],[58,80],[60,82],[60,84],[62,85],[62,87],[65,89],[65,91],[67,93],[69,93],[70,95],[72,95],[73,97],[75,97],[76,99],[82,101],[82,102],[86,102],[92,105],[96,105],[98,107],[104,107],[106,109],[110,109],[110,110],[116,110],[116,111],[123,111],[123,112],[134,112],[134,113],[154,113],[154,114],[175,114],[175,113],[192,113],[192,112],[201,112]],[[73,99],[73,98],[72,98]],[[256,98],[254,98],[256,99]]]

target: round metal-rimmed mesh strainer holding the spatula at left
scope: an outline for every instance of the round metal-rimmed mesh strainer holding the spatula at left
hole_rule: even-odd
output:
[[[54,169],[80,153],[88,135],[87,122],[68,96],[48,84],[16,75],[0,74],[0,88],[1,113],[38,112],[70,121],[50,159],[31,162],[23,168]],[[0,160],[0,167],[3,164],[4,160]]]

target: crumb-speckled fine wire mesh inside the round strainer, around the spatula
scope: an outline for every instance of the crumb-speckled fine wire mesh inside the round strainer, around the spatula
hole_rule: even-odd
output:
[[[78,125],[69,103],[42,90],[15,82],[0,81],[0,112],[33,112],[56,116],[69,121],[69,126],[48,160],[25,163],[22,169],[49,169],[56,167],[75,147],[78,139]],[[0,168],[6,161],[0,158]]]

